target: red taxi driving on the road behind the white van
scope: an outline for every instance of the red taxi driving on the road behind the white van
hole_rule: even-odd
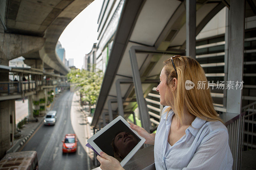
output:
[[[68,153],[68,152],[76,152],[77,148],[77,138],[76,134],[67,134],[64,137],[64,140],[62,141],[62,152]]]

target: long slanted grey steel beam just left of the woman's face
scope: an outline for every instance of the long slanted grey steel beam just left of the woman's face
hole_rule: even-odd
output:
[[[143,97],[143,91],[142,91],[142,85],[140,80],[140,72],[138,67],[138,62],[136,58],[136,46],[132,46],[129,50],[130,55],[130,61],[132,65],[132,79],[135,87],[136,92],[136,99],[139,107],[139,113],[140,113],[140,120],[142,127],[147,130],[147,132],[150,132],[150,121],[149,121],[149,115],[148,115],[148,107],[146,104],[146,101]],[[145,48],[148,49],[148,47],[139,47],[139,48]],[[152,49],[152,48],[151,48]]]

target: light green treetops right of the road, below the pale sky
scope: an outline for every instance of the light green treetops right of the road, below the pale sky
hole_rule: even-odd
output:
[[[71,70],[68,74],[68,81],[81,86],[79,90],[82,101],[89,102],[89,106],[97,103],[100,88],[103,80],[103,72],[87,70]]]

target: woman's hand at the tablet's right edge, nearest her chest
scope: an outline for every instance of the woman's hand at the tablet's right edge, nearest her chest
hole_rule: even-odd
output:
[[[138,132],[138,134],[141,137],[144,137],[146,139],[145,144],[155,144],[155,133],[149,134],[144,128],[141,128],[140,126],[137,126],[135,124],[130,123],[130,127]]]

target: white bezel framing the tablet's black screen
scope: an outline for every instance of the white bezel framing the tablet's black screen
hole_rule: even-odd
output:
[[[129,128],[130,128],[130,124],[122,117],[122,116],[118,116],[116,119],[114,119],[113,121],[111,121],[110,123],[108,123],[104,128],[102,128],[100,131],[98,131],[95,135],[93,135],[92,137],[90,137],[87,142],[95,149],[96,152],[98,152],[100,154],[100,152],[102,152],[102,150],[97,146],[97,144],[95,144],[93,142],[94,139],[96,139],[97,137],[99,137],[102,133],[104,133],[107,129],[109,129],[111,126],[113,126],[116,122],[118,122],[119,120],[121,120],[122,122],[124,122],[124,124]],[[131,158],[132,156],[140,149],[140,147],[144,144],[144,142],[146,141],[146,139],[144,137],[141,137],[138,132],[136,132],[135,130],[131,129],[132,132],[134,132],[141,140],[140,142],[132,149],[132,151],[130,153],[128,153],[128,155],[120,162],[121,166],[123,167]]]

